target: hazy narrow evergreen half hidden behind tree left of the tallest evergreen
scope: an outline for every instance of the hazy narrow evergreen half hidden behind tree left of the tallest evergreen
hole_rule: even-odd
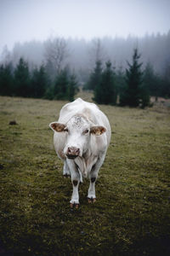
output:
[[[101,61],[96,61],[94,72],[91,73],[90,79],[88,80],[88,84],[86,84],[84,89],[95,90],[95,87],[98,86],[98,84],[101,81],[101,74],[102,74],[102,63]]]

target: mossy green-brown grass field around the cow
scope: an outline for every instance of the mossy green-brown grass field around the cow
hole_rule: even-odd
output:
[[[0,254],[170,255],[170,108],[100,106],[112,137],[97,201],[84,179],[71,209],[48,128],[64,104],[0,97]]]

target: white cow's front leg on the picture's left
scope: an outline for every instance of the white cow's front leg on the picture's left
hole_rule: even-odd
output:
[[[67,164],[70,168],[71,172],[71,183],[72,183],[72,196],[71,196],[71,207],[78,207],[79,205],[79,194],[78,194],[78,186],[81,180],[80,173],[78,171],[77,165],[75,164],[74,160],[68,160]]]

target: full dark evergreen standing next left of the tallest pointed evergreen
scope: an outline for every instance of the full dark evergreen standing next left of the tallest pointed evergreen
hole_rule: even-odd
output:
[[[94,101],[99,104],[116,104],[116,85],[111,61],[105,63],[106,67],[101,75],[100,83],[94,90]]]

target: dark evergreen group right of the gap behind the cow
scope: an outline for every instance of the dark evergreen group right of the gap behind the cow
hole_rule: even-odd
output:
[[[94,90],[94,101],[99,104],[111,104],[145,108],[150,106],[150,96],[170,97],[170,68],[167,76],[161,77],[154,72],[150,62],[143,69],[138,49],[133,50],[131,63],[127,61],[126,71],[116,71],[111,61],[96,61],[84,90]]]

